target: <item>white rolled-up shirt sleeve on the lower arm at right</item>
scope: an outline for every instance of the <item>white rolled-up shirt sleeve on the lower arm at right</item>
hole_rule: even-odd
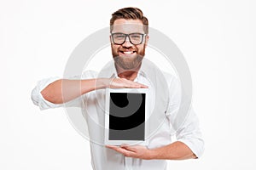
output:
[[[175,77],[172,77],[169,85],[169,103],[166,111],[166,116],[172,127],[172,132],[175,132],[177,141],[186,144],[195,156],[201,157],[204,150],[204,141],[202,139],[201,129],[198,117],[192,108],[189,109],[186,116],[177,115],[181,102],[181,88]],[[180,122],[177,126],[177,122]],[[177,127],[172,125],[176,123]]]

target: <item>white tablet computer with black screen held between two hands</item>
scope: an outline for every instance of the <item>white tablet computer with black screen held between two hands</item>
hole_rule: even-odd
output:
[[[148,88],[106,88],[105,144],[143,144]]]

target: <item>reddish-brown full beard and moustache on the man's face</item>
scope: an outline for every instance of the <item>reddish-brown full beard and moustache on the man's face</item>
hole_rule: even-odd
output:
[[[118,48],[118,51],[122,51],[123,48]],[[136,54],[119,55],[118,52],[112,48],[112,55],[115,65],[119,66],[125,71],[134,71],[142,64],[143,57],[145,55],[145,46],[143,49],[129,48],[131,51],[135,51]]]

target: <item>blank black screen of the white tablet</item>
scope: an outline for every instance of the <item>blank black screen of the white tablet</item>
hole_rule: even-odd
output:
[[[110,93],[109,140],[145,139],[146,94]]]

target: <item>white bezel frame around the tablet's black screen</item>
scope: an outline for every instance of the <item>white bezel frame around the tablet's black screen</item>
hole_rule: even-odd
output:
[[[110,93],[134,93],[145,94],[145,124],[144,124],[144,140],[109,140],[109,100]],[[121,145],[121,144],[146,144],[146,134],[148,132],[146,120],[148,117],[148,88],[106,88],[105,103],[105,144]]]

